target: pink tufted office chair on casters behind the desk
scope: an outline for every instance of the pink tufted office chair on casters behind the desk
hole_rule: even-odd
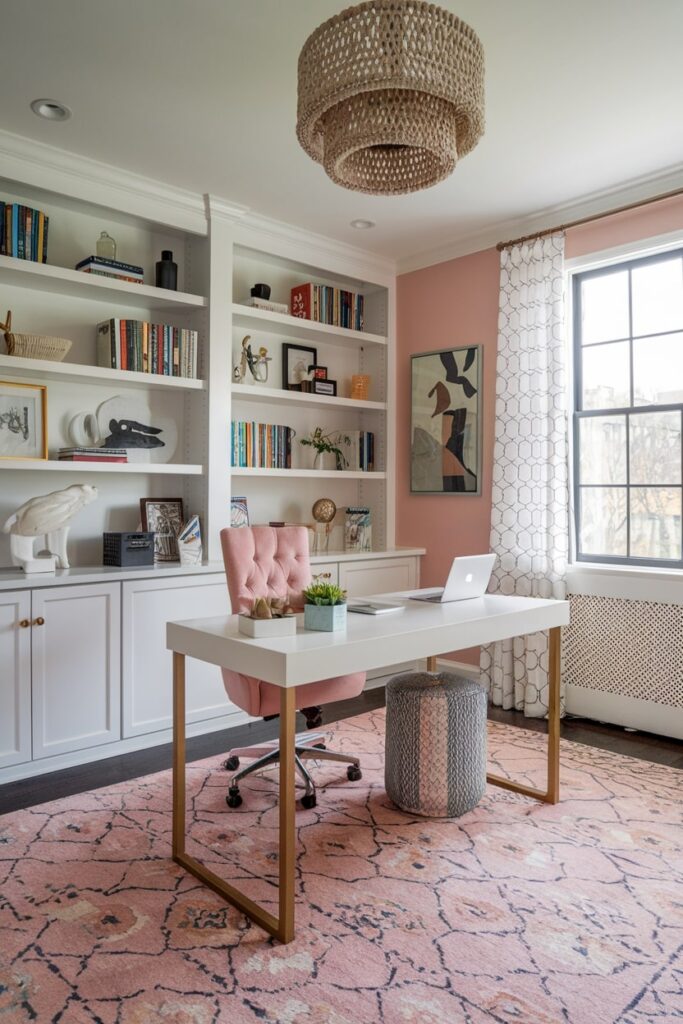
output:
[[[308,531],[304,526],[230,527],[221,530],[220,540],[233,612],[248,611],[254,597],[287,597],[294,608],[302,607],[301,592],[311,580]],[[229,669],[221,671],[225,690],[232,703],[254,717],[268,718],[279,714],[279,687]],[[337,676],[319,683],[297,686],[296,706],[299,710],[310,711],[316,705],[357,696],[365,682],[365,672],[356,672],[350,676]],[[315,758],[318,761],[339,761],[348,765],[346,773],[349,779],[360,778],[358,758],[327,751],[321,744],[314,746],[313,742],[318,739],[319,734],[296,737],[296,767],[305,785],[301,802],[307,808],[315,806],[315,784],[304,765],[305,760]],[[229,752],[225,761],[228,771],[240,768],[239,755],[253,757],[257,753],[262,756],[232,775],[225,798],[228,807],[239,807],[242,803],[239,783],[246,775],[269,767],[280,760],[278,746],[270,746],[265,753],[256,748]]]

